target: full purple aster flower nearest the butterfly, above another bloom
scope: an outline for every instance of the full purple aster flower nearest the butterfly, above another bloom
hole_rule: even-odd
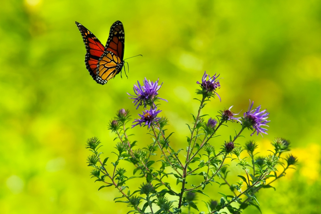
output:
[[[139,83],[139,81],[137,81],[137,84],[134,84],[134,93],[136,95],[131,95],[129,93],[127,93],[130,96],[133,96],[130,99],[134,99],[133,103],[135,103],[135,106],[137,105],[136,109],[138,109],[139,106],[144,105],[144,108],[146,108],[146,106],[155,106],[154,102],[157,99],[161,99],[167,102],[166,99],[162,99],[157,97],[158,95],[158,90],[160,89],[160,87],[162,86],[163,83],[161,83],[160,85],[158,85],[158,81],[153,82],[150,80],[147,80],[146,77],[143,80],[143,85],[141,85]]]

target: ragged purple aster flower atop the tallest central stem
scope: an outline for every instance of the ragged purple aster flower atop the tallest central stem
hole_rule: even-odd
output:
[[[221,88],[220,82],[217,80],[220,74],[217,76],[215,75],[211,77],[209,74],[206,73],[206,71],[204,72],[204,75],[202,77],[202,83],[200,83],[199,81],[196,82],[197,84],[200,84],[202,88],[202,90],[198,91],[198,94],[203,94],[205,97],[213,97],[213,95],[216,94],[221,101],[220,95],[218,95],[218,93],[215,92],[217,88]]]

